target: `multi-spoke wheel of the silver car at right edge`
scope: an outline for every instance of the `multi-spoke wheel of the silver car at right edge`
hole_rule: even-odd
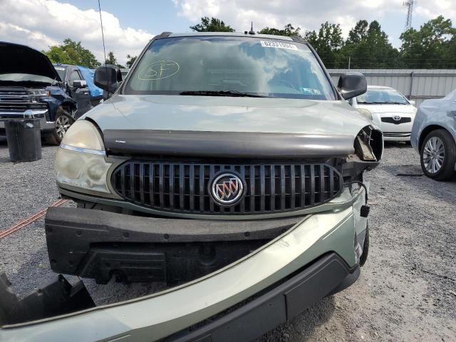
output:
[[[421,168],[433,180],[447,180],[455,173],[456,144],[446,130],[433,130],[421,146]]]

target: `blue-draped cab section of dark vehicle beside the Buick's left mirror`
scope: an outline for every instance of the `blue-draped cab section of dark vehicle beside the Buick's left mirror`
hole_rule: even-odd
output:
[[[75,118],[80,117],[95,105],[100,103],[103,98],[103,89],[98,88],[93,83],[95,71],[83,66],[70,66],[68,64],[54,64],[54,68],[66,86],[68,95],[73,99],[78,99],[81,105],[78,113],[73,113]],[[76,81],[76,85],[74,83]],[[86,87],[81,88],[78,81],[83,81]]]

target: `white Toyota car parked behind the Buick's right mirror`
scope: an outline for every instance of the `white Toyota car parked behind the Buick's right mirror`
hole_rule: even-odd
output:
[[[351,105],[362,109],[364,115],[370,113],[373,122],[383,130],[384,140],[410,141],[415,102],[405,98],[398,90],[368,86],[366,93],[351,99]]]

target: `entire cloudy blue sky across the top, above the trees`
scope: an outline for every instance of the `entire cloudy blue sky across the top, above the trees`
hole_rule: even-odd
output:
[[[418,0],[413,27],[437,15],[456,26],[455,0]],[[404,29],[403,0],[101,0],[105,43],[120,63],[137,55],[155,34],[190,31],[202,16],[214,16],[244,31],[254,22],[281,28],[291,23],[303,31],[318,30],[325,22],[341,24],[346,36],[356,21],[377,20],[400,47]],[[13,41],[47,50],[69,37],[103,61],[97,0],[0,0],[0,41]]]

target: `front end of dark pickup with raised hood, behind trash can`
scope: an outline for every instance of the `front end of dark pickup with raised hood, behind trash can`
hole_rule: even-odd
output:
[[[75,86],[83,87],[79,81]],[[4,120],[40,119],[43,138],[60,143],[74,122],[78,102],[61,82],[48,57],[28,46],[0,42],[0,138]]]

